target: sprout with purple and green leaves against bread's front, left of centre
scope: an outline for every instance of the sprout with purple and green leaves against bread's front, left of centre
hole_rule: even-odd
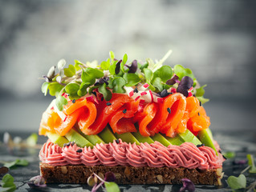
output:
[[[100,173],[101,174],[101,173]],[[116,177],[112,172],[107,172],[104,175],[93,173],[87,178],[87,184],[93,186],[91,192],[97,191],[100,187],[105,188],[108,192],[118,192],[120,188],[116,185]]]

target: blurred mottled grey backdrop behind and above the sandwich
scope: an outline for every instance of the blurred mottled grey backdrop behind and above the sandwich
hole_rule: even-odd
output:
[[[193,70],[214,130],[255,130],[256,1],[0,0],[0,131],[37,132],[39,80],[67,64],[128,54]]]

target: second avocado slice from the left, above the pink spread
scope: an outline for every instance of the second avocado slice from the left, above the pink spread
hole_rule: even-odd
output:
[[[80,147],[84,147],[84,146],[91,146],[91,148],[93,147],[93,145],[91,144],[91,142],[89,142],[86,138],[83,138],[83,136],[81,134],[79,134],[76,130],[71,129],[66,135],[65,137],[68,139],[68,141],[70,142],[75,142],[76,145],[80,146]]]

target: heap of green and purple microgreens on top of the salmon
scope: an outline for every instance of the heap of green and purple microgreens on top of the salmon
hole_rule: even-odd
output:
[[[83,63],[75,60],[75,64],[69,65],[67,68],[64,68],[66,61],[61,59],[57,66],[59,73],[55,73],[56,67],[52,66],[47,75],[43,75],[45,82],[42,92],[46,95],[49,91],[51,96],[56,97],[55,105],[60,111],[63,110],[63,106],[67,105],[66,94],[69,99],[75,101],[98,91],[103,94],[106,101],[109,101],[112,98],[112,93],[125,94],[128,87],[145,84],[148,87],[145,88],[144,94],[141,96],[147,94],[147,89],[161,97],[166,97],[171,92],[180,92],[185,97],[195,94],[201,103],[208,102],[208,99],[203,98],[205,93],[203,88],[206,85],[199,86],[192,70],[181,65],[176,65],[173,68],[163,66],[171,53],[172,51],[169,50],[164,58],[156,62],[148,58],[144,63],[137,60],[127,63],[127,54],[118,60],[110,51],[110,58],[101,62],[100,65],[95,61]],[[166,92],[165,95],[163,95],[163,91]]]

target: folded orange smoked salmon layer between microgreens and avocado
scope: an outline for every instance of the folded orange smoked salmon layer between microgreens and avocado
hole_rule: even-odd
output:
[[[169,94],[163,102],[150,103],[140,102],[140,99],[135,101],[126,94],[112,94],[108,102],[79,98],[75,102],[69,101],[64,106],[63,114],[65,119],[60,118],[54,108],[45,111],[39,134],[52,132],[64,136],[76,122],[83,134],[99,134],[108,123],[114,133],[124,134],[136,132],[134,124],[137,122],[140,134],[145,137],[159,132],[174,137],[186,129],[197,134],[210,125],[209,117],[198,99],[185,98],[180,93]]]

